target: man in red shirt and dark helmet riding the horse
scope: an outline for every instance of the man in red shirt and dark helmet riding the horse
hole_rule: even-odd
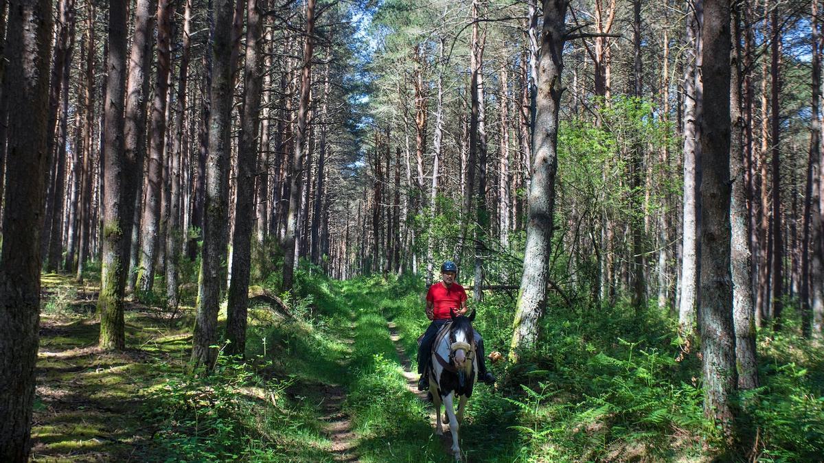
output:
[[[432,320],[432,323],[426,329],[424,339],[421,340],[418,348],[418,373],[420,375],[418,389],[420,391],[426,391],[429,388],[425,372],[432,358],[432,344],[438,330],[451,319],[451,311],[455,311],[455,315],[459,316],[465,314],[467,310],[466,290],[460,284],[455,283],[456,273],[456,264],[452,260],[447,260],[441,265],[441,281],[430,286],[426,293],[426,316]],[[495,376],[486,371],[484,339],[481,339],[477,330],[474,334],[475,344],[478,346],[478,381],[493,384]]]

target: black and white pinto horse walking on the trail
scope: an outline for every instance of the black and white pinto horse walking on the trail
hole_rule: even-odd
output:
[[[470,316],[455,316],[443,325],[432,347],[432,362],[429,368],[429,392],[435,405],[437,425],[435,433],[443,434],[441,423],[441,404],[446,405],[449,431],[452,433],[452,453],[456,461],[461,461],[461,449],[458,447],[458,426],[463,422],[466,400],[472,395],[472,387],[478,371],[478,359],[475,358],[472,320]],[[458,397],[458,410],[455,413],[455,397]]]

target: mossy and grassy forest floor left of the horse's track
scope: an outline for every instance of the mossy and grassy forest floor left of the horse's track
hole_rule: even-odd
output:
[[[34,461],[452,461],[385,294],[331,283],[302,320],[258,307],[244,366],[193,379],[191,306],[129,302],[128,348],[110,353],[96,286],[42,281]]]

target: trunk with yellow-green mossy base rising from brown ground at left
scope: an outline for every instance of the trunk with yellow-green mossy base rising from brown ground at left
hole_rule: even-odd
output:
[[[129,222],[132,213],[128,198],[129,159],[124,150],[124,83],[126,80],[126,5],[109,5],[109,54],[106,58],[105,131],[102,134],[104,164],[101,257],[101,292],[97,311],[101,314],[100,347],[124,349],[123,296],[126,261],[129,255]],[[137,40],[137,39],[135,39]],[[127,113],[128,114],[128,113]],[[132,203],[133,204],[133,199]]]

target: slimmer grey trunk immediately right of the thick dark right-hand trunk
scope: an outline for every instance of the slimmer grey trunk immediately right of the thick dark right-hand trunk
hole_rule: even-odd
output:
[[[752,297],[752,255],[747,237],[747,185],[745,182],[744,120],[742,103],[742,30],[741,5],[733,11],[734,49],[731,57],[729,93],[730,120],[733,124],[730,139],[729,163],[733,192],[730,198],[730,266],[733,278],[733,323],[735,327],[735,358],[738,367],[737,387],[742,390],[758,387],[756,362],[756,319]]]

